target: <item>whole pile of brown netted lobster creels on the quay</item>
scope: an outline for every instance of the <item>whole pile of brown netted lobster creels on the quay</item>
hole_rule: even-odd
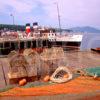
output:
[[[62,48],[45,49],[38,54],[32,49],[25,49],[23,54],[14,54],[10,58],[10,78],[45,77],[52,75],[58,66],[66,65]]]

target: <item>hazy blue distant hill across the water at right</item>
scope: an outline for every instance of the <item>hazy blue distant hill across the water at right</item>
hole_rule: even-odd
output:
[[[70,30],[72,30],[73,32],[87,32],[87,33],[100,33],[100,30],[94,27],[73,27],[70,28]]]

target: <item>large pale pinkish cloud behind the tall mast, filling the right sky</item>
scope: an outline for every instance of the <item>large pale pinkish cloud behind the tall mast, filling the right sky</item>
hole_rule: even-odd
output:
[[[38,0],[48,18],[57,22],[56,0]],[[57,0],[62,26],[100,25],[100,0]]]

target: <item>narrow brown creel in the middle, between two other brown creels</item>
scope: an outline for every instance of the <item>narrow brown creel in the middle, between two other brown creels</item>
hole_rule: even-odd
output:
[[[25,53],[26,52],[26,53]],[[29,63],[30,67],[27,67],[27,70],[29,70],[28,76],[36,76],[39,75],[41,72],[41,62],[40,62],[40,56],[36,51],[33,51],[31,49],[27,49],[24,51],[25,59]]]

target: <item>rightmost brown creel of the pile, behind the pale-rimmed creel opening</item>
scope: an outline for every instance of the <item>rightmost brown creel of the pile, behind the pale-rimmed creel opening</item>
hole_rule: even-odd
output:
[[[41,67],[45,73],[52,75],[56,68],[60,65],[66,65],[65,55],[62,48],[52,47],[50,49],[45,49],[43,53],[40,54],[42,60]]]

